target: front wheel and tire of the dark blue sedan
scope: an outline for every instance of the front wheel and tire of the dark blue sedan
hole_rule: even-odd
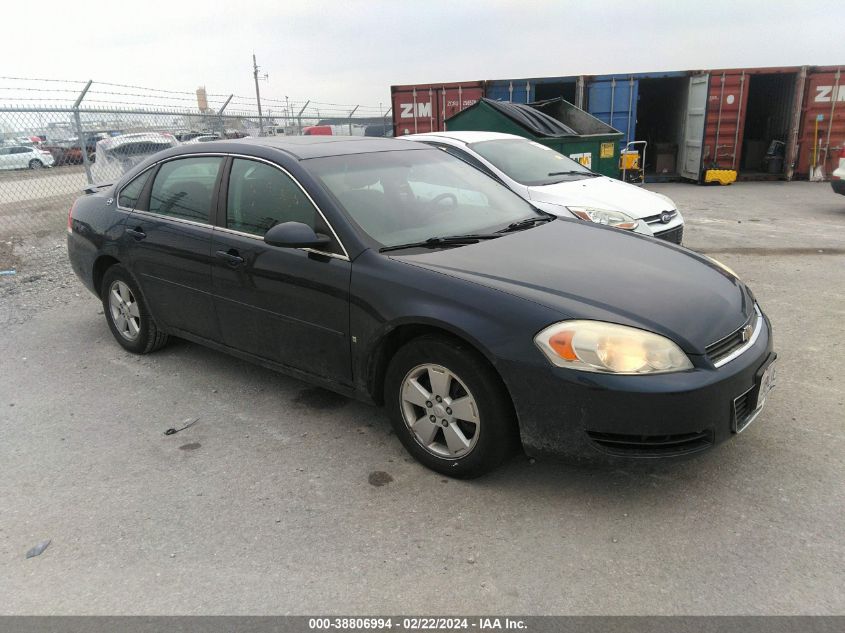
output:
[[[516,445],[516,416],[501,379],[475,350],[445,337],[422,336],[396,353],[385,406],[408,452],[450,477],[483,475]]]

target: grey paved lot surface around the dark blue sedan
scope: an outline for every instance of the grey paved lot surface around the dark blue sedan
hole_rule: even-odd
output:
[[[757,421],[678,463],[444,479],[379,409],[185,342],[127,354],[66,266],[0,280],[0,613],[845,612],[845,197],[650,188],[780,354]]]

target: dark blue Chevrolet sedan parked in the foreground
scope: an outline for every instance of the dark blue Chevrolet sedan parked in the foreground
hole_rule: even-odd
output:
[[[700,452],[774,384],[769,321],[730,270],[410,141],[176,147],[79,198],[68,253],[130,352],[178,336],[384,404],[456,477],[520,446]]]

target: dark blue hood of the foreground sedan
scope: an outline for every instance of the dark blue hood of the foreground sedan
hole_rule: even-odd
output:
[[[595,319],[657,332],[690,354],[703,354],[754,309],[745,285],[705,257],[578,220],[391,257],[544,305],[562,320]]]

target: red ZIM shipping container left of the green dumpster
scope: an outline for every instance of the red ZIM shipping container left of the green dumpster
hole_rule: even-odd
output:
[[[444,121],[484,96],[484,82],[391,86],[393,135],[442,132]]]

